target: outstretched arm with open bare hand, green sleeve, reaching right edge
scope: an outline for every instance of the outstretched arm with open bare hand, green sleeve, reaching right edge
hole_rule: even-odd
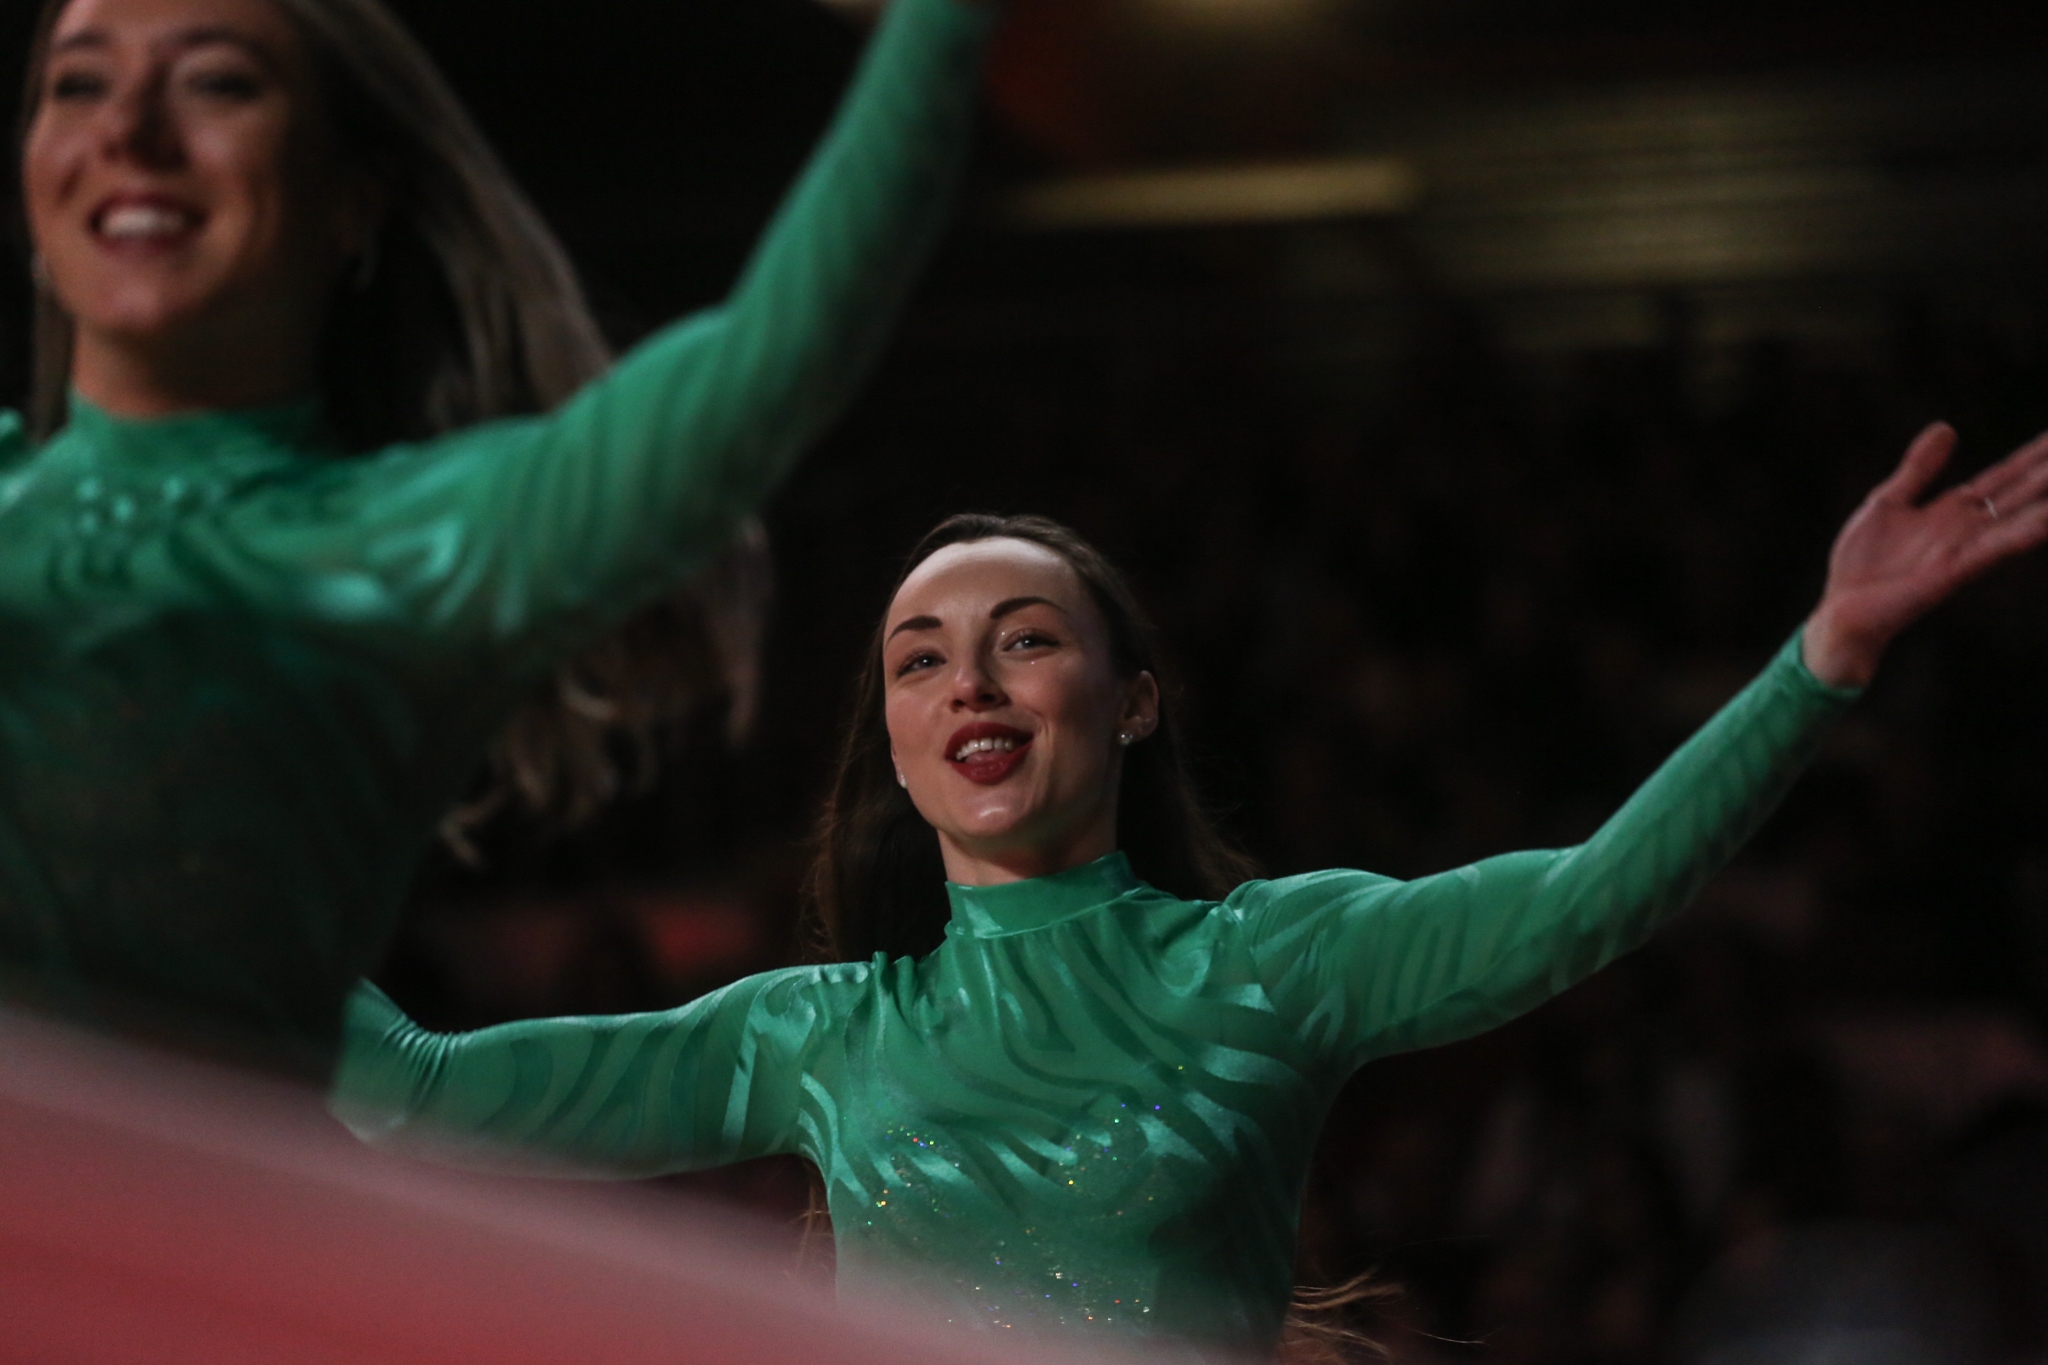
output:
[[[2048,438],[1925,497],[1956,444],[1929,428],[1835,542],[1800,636],[1587,843],[1393,882],[1253,882],[1268,993],[1343,1066],[1479,1033],[1640,945],[1741,847],[1890,641],[1962,583],[2048,540]]]

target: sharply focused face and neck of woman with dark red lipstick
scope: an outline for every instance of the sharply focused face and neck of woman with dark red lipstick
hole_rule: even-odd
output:
[[[946,876],[1047,876],[1116,849],[1122,737],[1159,722],[1151,673],[1120,677],[1073,567],[1028,540],[950,544],[889,604],[885,716],[897,774]]]

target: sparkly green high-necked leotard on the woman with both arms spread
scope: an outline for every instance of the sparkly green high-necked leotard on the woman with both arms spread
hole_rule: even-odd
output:
[[[1640,943],[1849,694],[1796,643],[1591,841],[1186,902],[1124,857],[948,886],[922,962],[795,968],[668,1013],[418,1029],[365,986],[336,1111],[653,1175],[799,1152],[840,1281],[963,1322],[1270,1347],[1315,1134],[1362,1062],[1483,1031]],[[440,1148],[442,1154],[446,1148]]]

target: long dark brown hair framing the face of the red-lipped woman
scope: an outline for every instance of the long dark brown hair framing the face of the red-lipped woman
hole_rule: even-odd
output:
[[[1159,651],[1137,596],[1102,551],[1042,516],[961,514],[934,526],[903,561],[889,598],[926,559],[969,540],[1028,540],[1059,555],[1081,579],[1110,630],[1110,663],[1122,677],[1159,677]],[[883,720],[883,630],[874,628],[854,686],[831,794],[817,823],[809,880],[813,952],[838,960],[922,958],[946,929],[946,870],[938,835],[895,780]],[[1116,831],[1130,868],[1190,900],[1221,898],[1251,878],[1251,860],[1219,831],[1188,772],[1171,690],[1159,690],[1159,726],[1124,753]]]

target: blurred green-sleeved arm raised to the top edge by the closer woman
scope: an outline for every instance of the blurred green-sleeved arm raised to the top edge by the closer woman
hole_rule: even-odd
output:
[[[723,546],[842,409],[946,221],[991,6],[895,0],[729,299],[561,409],[338,467],[238,528],[307,606],[541,653]]]

